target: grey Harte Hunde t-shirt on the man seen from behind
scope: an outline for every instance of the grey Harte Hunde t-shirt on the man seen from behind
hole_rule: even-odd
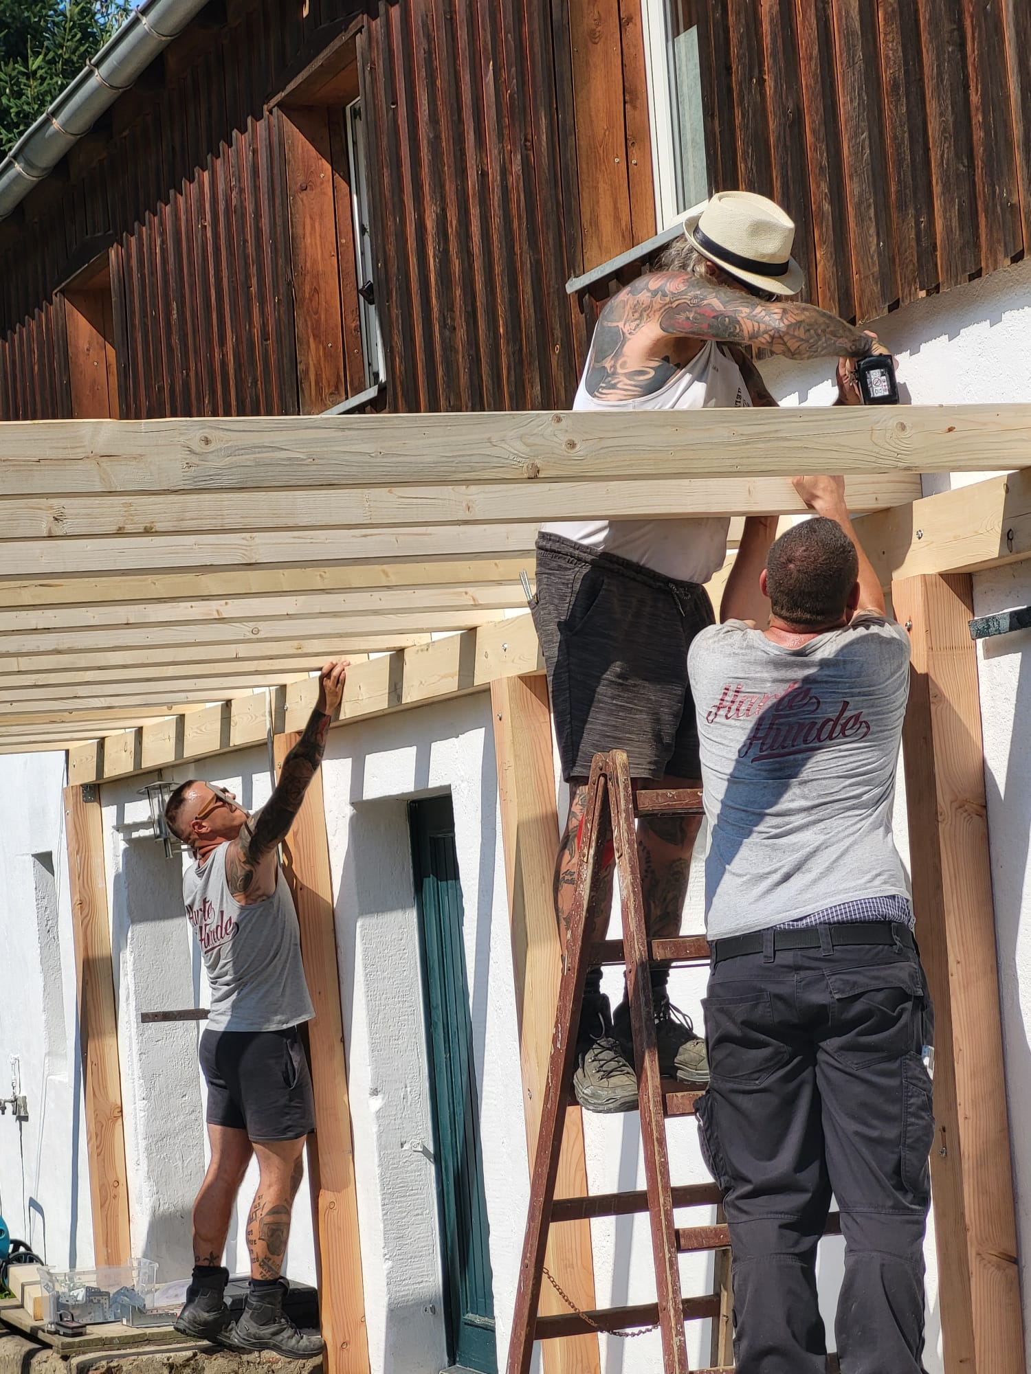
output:
[[[709,848],[711,940],[856,897],[909,896],[891,811],[909,638],[865,614],[800,649],[741,621],[687,654]]]

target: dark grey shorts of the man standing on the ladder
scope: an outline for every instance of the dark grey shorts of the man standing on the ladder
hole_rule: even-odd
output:
[[[698,583],[537,537],[533,624],[565,779],[586,778],[609,749],[625,749],[634,778],[700,775],[687,649],[713,620]]]

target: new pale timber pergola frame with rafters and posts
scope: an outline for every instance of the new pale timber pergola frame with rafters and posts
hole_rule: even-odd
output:
[[[1031,473],[918,497],[918,473],[1031,462],[1028,405],[40,422],[4,427],[0,747],[67,747],[66,815],[98,1261],[129,1245],[98,783],[275,735],[346,650],[340,727],[492,694],[526,1132],[554,1000],[558,834],[543,665],[522,598],[547,514],[799,510],[788,474],[844,471],[913,639],[905,738],[917,929],[938,1007],[932,1154],[949,1374],[1023,1374],[971,573],[1031,556]],[[426,474],[434,481],[428,482]],[[509,614],[506,614],[509,611]],[[434,632],[450,632],[433,638]],[[364,655],[368,655],[367,658]],[[375,657],[373,657],[375,655]],[[264,690],[258,690],[264,688]],[[319,1018],[318,1234],[330,1374],[368,1369],[320,789],[287,867]],[[550,1006],[551,1003],[548,1003]],[[559,1191],[584,1190],[579,1123]],[[590,1231],[553,1254],[594,1305]],[[546,1352],[598,1370],[594,1337]]]

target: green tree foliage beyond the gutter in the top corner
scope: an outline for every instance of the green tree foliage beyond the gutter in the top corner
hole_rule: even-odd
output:
[[[131,0],[0,0],[0,154],[110,38]]]

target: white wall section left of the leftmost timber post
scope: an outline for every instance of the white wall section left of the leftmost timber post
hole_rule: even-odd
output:
[[[29,1112],[0,1117],[0,1213],[55,1268],[93,1259],[63,780],[63,754],[0,758],[0,1096]]]

